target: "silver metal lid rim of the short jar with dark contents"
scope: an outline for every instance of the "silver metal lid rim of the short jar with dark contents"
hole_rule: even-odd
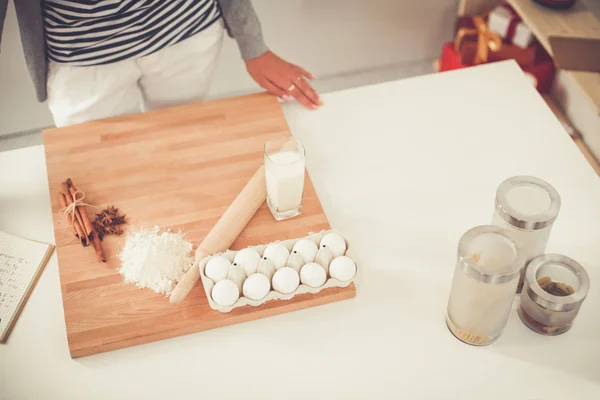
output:
[[[555,296],[546,292],[537,283],[538,271],[549,263],[559,264],[577,276],[579,287],[573,294]],[[590,290],[590,277],[586,270],[577,261],[560,254],[544,254],[531,260],[525,272],[525,282],[529,298],[540,306],[553,311],[570,311],[578,308]]]

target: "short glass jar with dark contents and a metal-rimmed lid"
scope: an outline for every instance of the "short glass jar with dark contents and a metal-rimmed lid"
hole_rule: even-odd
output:
[[[542,335],[560,335],[571,326],[590,289],[590,278],[575,260],[546,254],[529,263],[519,317]]]

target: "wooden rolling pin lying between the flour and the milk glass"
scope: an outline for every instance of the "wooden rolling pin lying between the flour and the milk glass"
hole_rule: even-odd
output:
[[[265,167],[261,166],[250,178],[240,194],[208,232],[204,241],[196,249],[196,261],[204,257],[229,249],[252,216],[256,213],[267,197],[265,184]],[[171,293],[171,304],[181,302],[200,279],[197,263],[181,278]]]

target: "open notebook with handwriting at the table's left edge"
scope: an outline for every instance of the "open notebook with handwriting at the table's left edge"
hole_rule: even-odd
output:
[[[51,244],[0,232],[0,343],[6,343],[53,251]]]

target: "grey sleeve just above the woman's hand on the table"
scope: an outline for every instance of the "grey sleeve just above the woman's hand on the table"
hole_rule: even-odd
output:
[[[0,0],[0,4],[3,1],[6,0]],[[219,5],[227,32],[237,41],[244,60],[258,57],[269,50],[251,0],[219,0]]]

